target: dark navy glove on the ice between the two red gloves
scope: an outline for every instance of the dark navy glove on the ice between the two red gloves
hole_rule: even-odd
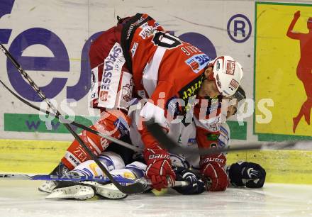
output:
[[[174,167],[173,171],[176,174],[176,181],[189,182],[188,186],[173,187],[180,194],[201,194],[206,191],[205,184],[199,174],[195,174],[184,167]]]

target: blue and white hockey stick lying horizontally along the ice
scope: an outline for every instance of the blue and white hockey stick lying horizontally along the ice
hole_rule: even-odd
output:
[[[128,185],[135,182],[140,182],[144,186],[151,185],[152,182],[149,179],[140,178],[140,179],[127,179],[118,175],[112,175],[113,178],[121,185]],[[38,174],[38,175],[28,175],[28,174],[0,174],[0,179],[4,180],[45,180],[45,181],[92,181],[92,182],[109,182],[110,180],[107,177],[91,177],[91,176],[80,176],[75,174],[65,174],[64,176],[50,175],[50,174]],[[169,184],[168,187],[178,187],[178,186],[187,186],[189,182],[186,181],[175,181],[174,185]]]

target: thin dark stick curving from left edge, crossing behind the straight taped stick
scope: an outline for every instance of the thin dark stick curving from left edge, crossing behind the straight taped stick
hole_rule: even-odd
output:
[[[36,109],[36,110],[41,111],[41,112],[43,112],[43,113],[46,113],[46,114],[48,114],[48,115],[51,114],[52,116],[55,116],[56,118],[60,118],[58,114],[50,113],[50,111],[45,111],[45,110],[43,110],[43,109],[40,109],[38,106],[35,106],[34,104],[31,104],[29,101],[26,101],[25,99],[21,98],[21,96],[18,96],[18,95],[17,95],[16,93],[14,93],[11,89],[9,89],[9,87],[7,87],[6,84],[4,84],[4,82],[2,82],[1,80],[0,80],[0,83],[8,90],[11,94],[13,94],[13,96],[15,96],[17,99],[19,99],[20,101],[22,101],[24,104],[30,106],[30,107],[33,108],[33,109]],[[118,140],[118,139],[116,139],[116,138],[113,138],[113,137],[111,137],[110,135],[105,135],[105,134],[103,134],[103,133],[100,133],[99,131],[96,131],[96,130],[94,130],[94,129],[92,129],[92,128],[89,128],[89,127],[87,127],[87,126],[84,126],[84,125],[82,125],[81,123],[77,123],[77,122],[75,122],[75,121],[72,121],[72,123],[70,123],[70,124],[72,124],[73,126],[77,126],[78,128],[82,128],[83,130],[87,130],[87,131],[89,131],[90,133],[94,133],[94,134],[99,135],[99,136],[101,136],[101,137],[103,137],[103,138],[106,138],[107,140],[110,140],[110,141],[112,141],[113,143],[116,143],[116,144],[118,144],[118,145],[122,145],[123,147],[129,148],[129,149],[131,149],[131,150],[134,150],[135,152],[141,152],[141,151],[142,151],[140,148],[137,148],[137,147],[135,147],[134,145],[130,145],[129,143],[123,142],[122,140]]]

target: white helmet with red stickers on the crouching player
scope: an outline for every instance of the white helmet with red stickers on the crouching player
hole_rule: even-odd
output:
[[[213,67],[213,78],[216,80],[218,91],[223,96],[235,94],[243,77],[242,66],[230,56],[216,57],[209,65]]]

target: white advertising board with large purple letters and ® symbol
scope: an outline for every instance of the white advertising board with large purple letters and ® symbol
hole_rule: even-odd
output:
[[[69,118],[89,125],[98,111],[89,108],[92,40],[116,25],[116,16],[148,13],[165,30],[214,58],[230,55],[245,69],[247,97],[252,97],[252,1],[58,1],[1,0],[0,42],[28,72],[52,103]],[[0,55],[0,79],[19,96],[43,106],[11,62]],[[71,140],[62,124],[39,116],[1,88],[0,138]],[[252,117],[239,126],[230,122],[233,138],[247,138]],[[243,129],[243,130],[242,130]]]

